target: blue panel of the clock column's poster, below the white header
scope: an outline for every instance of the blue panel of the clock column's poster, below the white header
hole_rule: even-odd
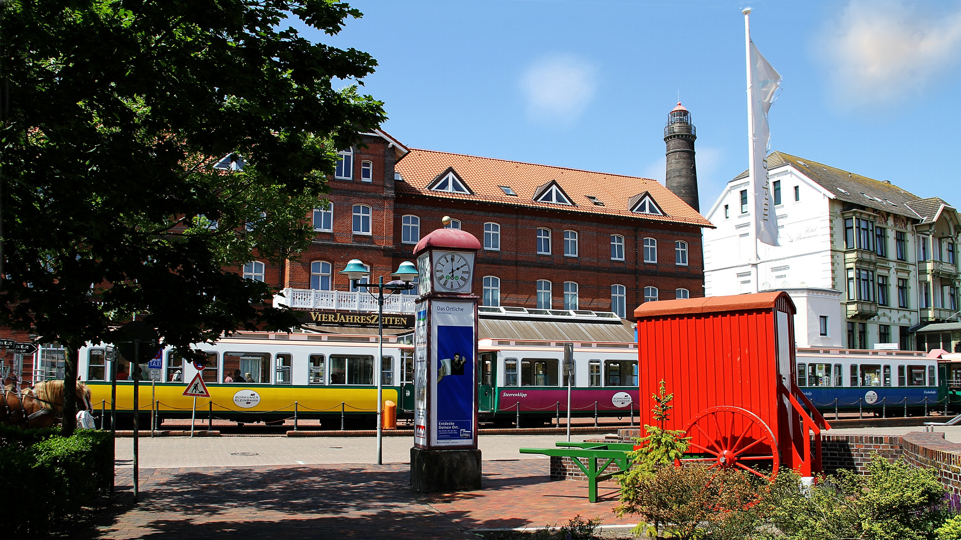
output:
[[[474,328],[437,327],[437,442],[474,438]]]

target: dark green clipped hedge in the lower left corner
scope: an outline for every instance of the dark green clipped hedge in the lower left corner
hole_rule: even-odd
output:
[[[0,530],[37,536],[75,516],[110,488],[111,434],[0,430],[0,489],[10,494]]]

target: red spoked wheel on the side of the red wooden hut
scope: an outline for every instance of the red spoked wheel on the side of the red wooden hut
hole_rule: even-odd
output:
[[[710,464],[711,469],[738,467],[769,480],[777,474],[780,457],[775,434],[748,409],[722,405],[702,410],[685,431],[691,437],[688,452],[711,457],[684,457],[681,461]],[[771,473],[767,474],[769,465]]]

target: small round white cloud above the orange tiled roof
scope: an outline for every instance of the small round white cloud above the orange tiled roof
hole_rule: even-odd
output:
[[[521,78],[532,119],[571,122],[590,103],[597,89],[597,67],[573,55],[535,61]]]

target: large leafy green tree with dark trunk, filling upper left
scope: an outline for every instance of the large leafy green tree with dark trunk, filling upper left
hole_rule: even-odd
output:
[[[361,13],[333,0],[8,0],[0,10],[10,88],[0,321],[66,349],[64,433],[78,349],[111,341],[135,313],[186,357],[222,333],[295,325],[239,265],[306,245],[336,150],[385,116],[357,92],[376,61],[283,23],[333,36]],[[242,171],[211,167],[228,155]]]

